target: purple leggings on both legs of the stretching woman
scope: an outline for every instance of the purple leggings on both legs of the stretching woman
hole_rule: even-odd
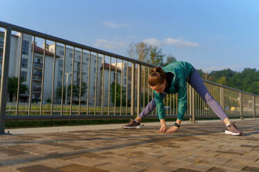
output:
[[[207,91],[207,88],[205,87],[203,80],[201,79],[201,76],[198,74],[196,70],[194,70],[194,74],[189,78],[188,83],[191,85],[191,87],[194,87],[196,92],[203,98],[203,100],[210,105],[212,110],[217,114],[217,116],[224,120],[227,118],[226,113],[223,111],[222,107],[217,103],[217,101],[214,100],[214,98],[210,95],[210,93]],[[166,93],[163,93],[163,96],[166,96]],[[148,103],[148,105],[145,107],[145,109],[139,114],[139,117],[143,119],[146,117],[152,110],[154,110],[156,107],[155,105],[155,98]]]

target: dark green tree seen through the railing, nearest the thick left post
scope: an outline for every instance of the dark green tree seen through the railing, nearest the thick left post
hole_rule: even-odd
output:
[[[28,90],[27,85],[22,84],[24,80],[20,79],[19,94],[24,94]],[[11,76],[8,78],[8,93],[10,101],[13,101],[13,96],[17,97],[18,78]],[[16,100],[16,98],[15,98]]]

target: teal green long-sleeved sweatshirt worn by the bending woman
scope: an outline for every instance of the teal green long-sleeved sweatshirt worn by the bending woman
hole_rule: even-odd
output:
[[[178,93],[178,119],[183,119],[187,108],[187,78],[194,73],[194,67],[189,62],[171,62],[166,67],[162,67],[165,73],[174,74],[169,94]],[[158,118],[164,119],[163,94],[153,90],[155,103],[157,105]]]

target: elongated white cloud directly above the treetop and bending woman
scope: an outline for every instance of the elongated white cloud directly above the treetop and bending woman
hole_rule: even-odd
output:
[[[173,39],[171,37],[166,38],[166,40],[157,40],[157,38],[148,38],[143,40],[146,44],[150,44],[153,46],[162,46],[162,45],[173,45],[173,46],[180,46],[180,47],[196,47],[200,46],[200,44],[195,42],[184,41],[180,39]]]

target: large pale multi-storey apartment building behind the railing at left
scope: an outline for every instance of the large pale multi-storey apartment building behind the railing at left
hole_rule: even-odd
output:
[[[12,35],[11,37],[11,46],[10,46],[10,63],[9,63],[9,73],[8,76],[15,76],[18,78],[19,76],[19,54],[21,47],[21,33],[17,33],[17,35]],[[1,63],[3,58],[3,42],[4,42],[4,33],[0,32],[0,71],[1,71]],[[43,72],[44,77],[44,85],[43,85],[43,99],[42,101],[47,101],[52,98],[52,80],[54,80],[54,103],[61,103],[61,96],[57,95],[57,89],[62,87],[63,83],[63,59],[64,59],[64,47],[62,45],[56,45],[56,61],[55,61],[55,70],[54,69],[54,44],[49,46],[43,44],[43,48],[40,48],[37,44],[34,49],[34,60],[32,63],[32,46],[33,45],[33,37],[31,35],[23,35],[22,40],[22,59],[21,59],[21,71],[20,76],[24,80],[22,84],[27,85],[29,88],[25,94],[19,94],[19,101],[29,102],[29,93],[30,93],[30,85],[31,85],[31,68],[33,67],[33,79],[32,79],[32,90],[31,90],[31,101],[36,103],[40,101],[40,95],[42,91],[42,76]],[[44,48],[46,46],[45,51],[45,70],[43,71],[43,53]],[[65,74],[64,74],[64,86],[69,86],[71,83],[79,87],[80,83],[80,74],[81,74],[81,51],[74,51],[74,76],[72,81],[72,57],[73,50],[67,48],[65,50]],[[100,97],[100,67],[102,66],[102,58],[98,57],[96,60],[96,55],[91,55],[91,64],[89,67],[89,54],[83,53],[83,61],[82,61],[82,83],[86,83],[86,90],[84,95],[81,95],[81,103],[86,103],[87,99],[87,85],[88,85],[88,71],[90,71],[90,80],[89,80],[89,105],[94,105],[95,96]],[[97,68],[96,68],[97,63]],[[1,75],[1,72],[0,72]],[[54,77],[54,78],[53,78]],[[97,94],[95,95],[95,80],[97,83]],[[73,86],[74,87],[74,86]],[[70,90],[67,90],[67,93]],[[70,98],[68,94],[64,97],[67,101],[66,103],[70,103]],[[15,101],[13,100],[8,101]],[[75,95],[72,98],[72,101],[78,103],[79,96]],[[97,100],[97,103],[100,102]],[[97,104],[98,105],[98,104]]]

